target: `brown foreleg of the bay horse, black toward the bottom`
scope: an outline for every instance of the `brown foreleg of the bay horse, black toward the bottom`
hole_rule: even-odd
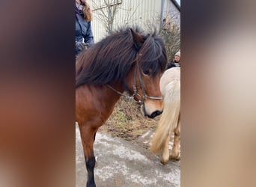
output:
[[[88,172],[87,187],[96,187],[94,181],[94,167],[95,167],[95,157],[94,157],[94,139],[97,129],[79,126],[80,134],[82,138],[82,146],[85,154],[85,165]]]

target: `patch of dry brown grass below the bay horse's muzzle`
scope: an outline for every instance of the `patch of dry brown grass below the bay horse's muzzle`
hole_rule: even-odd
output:
[[[150,129],[156,129],[159,116],[154,119],[144,117],[141,114],[138,104],[122,97],[115,105],[115,109],[109,120],[100,127],[100,132],[106,132],[112,137],[123,138],[127,141],[132,141],[140,147],[147,148],[147,145],[142,144],[139,140],[141,135],[144,135]]]

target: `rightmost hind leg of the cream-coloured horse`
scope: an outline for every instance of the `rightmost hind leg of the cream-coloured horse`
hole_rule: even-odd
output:
[[[171,150],[171,159],[180,160],[180,117],[177,127],[174,129],[174,146]]]

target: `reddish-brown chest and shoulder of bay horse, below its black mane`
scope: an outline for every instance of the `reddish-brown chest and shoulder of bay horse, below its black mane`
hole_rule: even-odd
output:
[[[118,91],[124,89],[112,85]],[[100,127],[112,114],[121,95],[112,91],[107,85],[81,85],[76,88],[76,120],[80,123],[94,119],[95,126]]]

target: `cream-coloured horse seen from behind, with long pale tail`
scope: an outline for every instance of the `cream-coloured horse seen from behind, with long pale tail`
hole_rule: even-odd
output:
[[[163,73],[160,79],[160,90],[164,110],[151,141],[150,150],[161,155],[161,162],[166,165],[169,160],[168,143],[171,132],[174,132],[171,159],[180,159],[180,67],[173,67]]]

